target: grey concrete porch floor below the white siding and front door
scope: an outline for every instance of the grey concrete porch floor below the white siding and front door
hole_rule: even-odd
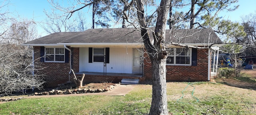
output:
[[[101,73],[101,72],[86,72],[86,71],[78,72],[75,74],[83,74],[83,73],[85,75],[104,75],[104,73]],[[143,74],[139,74],[139,73],[105,73],[105,75],[143,77]]]

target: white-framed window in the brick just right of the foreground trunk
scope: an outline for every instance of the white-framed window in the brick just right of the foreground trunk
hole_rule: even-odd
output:
[[[166,63],[174,65],[191,65],[191,48],[173,48],[169,50]]]

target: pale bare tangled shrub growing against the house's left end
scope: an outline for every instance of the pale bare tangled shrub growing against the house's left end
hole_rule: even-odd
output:
[[[37,74],[30,48],[19,44],[0,44],[0,95],[23,89],[42,89],[44,77]]]

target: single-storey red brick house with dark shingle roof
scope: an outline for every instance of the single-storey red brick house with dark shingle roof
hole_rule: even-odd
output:
[[[222,43],[209,29],[166,30],[166,43],[170,42],[196,47]],[[143,50],[140,31],[134,28],[57,32],[23,46],[33,47],[35,62],[45,67],[41,72],[46,75],[48,87],[73,81],[71,68],[76,75],[85,73],[85,82],[120,82],[123,78],[143,81],[152,77],[152,66]],[[210,80],[210,49],[175,45],[168,45],[168,48],[171,53],[166,64],[166,80]]]

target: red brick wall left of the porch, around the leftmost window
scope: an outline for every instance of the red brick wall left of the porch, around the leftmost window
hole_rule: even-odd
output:
[[[73,57],[73,70],[74,72],[79,71],[79,48],[71,48]],[[44,74],[46,87],[57,86],[60,83],[68,81],[68,73],[70,71],[70,52],[69,63],[57,63],[57,62],[40,62],[40,47],[34,47],[34,59],[36,59],[36,66],[41,66],[44,69],[39,70],[41,74]],[[72,73],[71,73],[72,75]],[[70,75],[70,81],[73,81],[73,77]]]

